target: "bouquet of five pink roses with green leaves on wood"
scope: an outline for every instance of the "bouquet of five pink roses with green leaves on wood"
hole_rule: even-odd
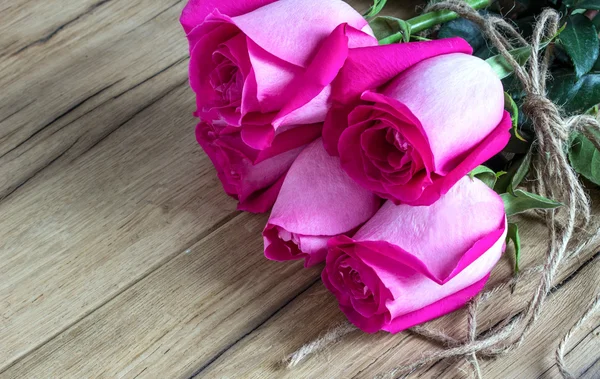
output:
[[[196,138],[224,190],[241,210],[271,210],[267,258],[325,262],[323,283],[369,333],[462,307],[507,238],[519,252],[507,215],[561,205],[516,189],[533,134],[510,66],[481,32],[452,12],[375,17],[384,4],[370,22],[341,0],[190,0],[181,16]],[[568,17],[562,47],[545,46],[563,53],[573,83],[595,86],[595,26]],[[452,19],[437,39],[418,35]],[[593,31],[591,65],[564,43],[582,25]],[[598,103],[600,86],[573,88],[565,81],[557,96]],[[595,180],[597,163],[581,158],[594,146],[574,138],[573,166]]]

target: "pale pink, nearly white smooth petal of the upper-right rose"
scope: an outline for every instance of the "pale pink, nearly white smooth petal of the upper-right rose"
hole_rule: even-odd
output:
[[[440,175],[446,175],[466,151],[490,134],[504,113],[504,90],[491,66],[461,53],[415,64],[382,94],[417,116]]]

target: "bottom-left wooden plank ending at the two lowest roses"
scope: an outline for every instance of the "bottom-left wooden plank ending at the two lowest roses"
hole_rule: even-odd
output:
[[[264,258],[265,222],[238,215],[0,376],[189,377],[319,277]]]

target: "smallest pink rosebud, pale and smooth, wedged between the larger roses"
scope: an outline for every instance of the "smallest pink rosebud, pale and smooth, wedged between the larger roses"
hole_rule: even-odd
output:
[[[308,145],[290,168],[263,231],[265,256],[277,261],[325,260],[327,241],[356,230],[381,201],[358,186],[321,139]]]

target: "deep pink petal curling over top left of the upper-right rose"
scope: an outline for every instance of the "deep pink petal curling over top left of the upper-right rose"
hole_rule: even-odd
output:
[[[343,110],[351,110],[364,91],[384,85],[427,58],[456,52],[470,54],[472,49],[461,38],[350,49],[344,67],[332,83],[332,100],[337,115],[328,115],[323,129],[329,154],[337,155],[339,136],[347,127]]]

